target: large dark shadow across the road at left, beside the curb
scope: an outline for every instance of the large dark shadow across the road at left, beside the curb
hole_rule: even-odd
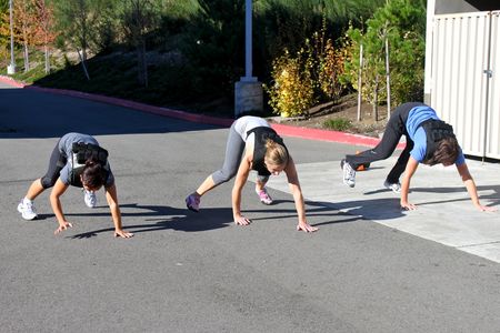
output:
[[[0,89],[0,139],[188,132],[221,129],[68,95]]]

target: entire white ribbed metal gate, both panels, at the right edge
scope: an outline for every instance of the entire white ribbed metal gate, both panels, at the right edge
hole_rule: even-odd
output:
[[[500,11],[434,16],[430,103],[466,154],[500,159]]]

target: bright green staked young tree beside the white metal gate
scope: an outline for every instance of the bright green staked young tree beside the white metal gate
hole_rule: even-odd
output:
[[[348,30],[346,48],[349,59],[346,61],[344,79],[354,89],[361,89],[363,98],[373,105],[374,117],[380,100],[387,97],[386,75],[390,75],[391,100],[394,103],[421,98],[424,32],[426,12],[420,0],[388,0],[367,21],[366,29]],[[358,87],[361,46],[363,84]],[[390,64],[389,73],[386,60]]]

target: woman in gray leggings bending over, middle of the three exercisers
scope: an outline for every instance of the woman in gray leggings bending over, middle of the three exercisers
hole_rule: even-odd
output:
[[[229,130],[226,148],[226,159],[222,169],[209,175],[198,188],[186,198],[186,205],[199,212],[201,196],[232,179],[236,175],[232,189],[232,214],[238,225],[250,224],[250,219],[241,214],[241,191],[251,170],[258,172],[256,192],[264,204],[271,204],[272,199],[266,190],[266,183],[271,174],[278,175],[281,171],[287,174],[290,191],[293,195],[299,224],[297,230],[306,232],[317,231],[318,228],[308,224],[302,191],[297,175],[296,164],[288,153],[283,140],[276,133],[269,123],[261,118],[246,115],[234,121]]]

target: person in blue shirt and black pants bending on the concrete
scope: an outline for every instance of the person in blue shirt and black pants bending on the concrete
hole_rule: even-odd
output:
[[[401,208],[417,209],[408,201],[408,192],[417,167],[423,163],[444,167],[456,164],[474,206],[480,211],[496,210],[479,202],[476,183],[452,127],[441,121],[432,108],[420,102],[401,104],[392,112],[382,140],[376,148],[359,154],[346,155],[346,159],[342,159],[340,165],[343,170],[343,183],[353,188],[358,167],[388,159],[394,152],[402,135],[407,139],[407,145],[383,183],[387,189],[401,193]],[[403,173],[402,182],[400,182],[399,179]]]

